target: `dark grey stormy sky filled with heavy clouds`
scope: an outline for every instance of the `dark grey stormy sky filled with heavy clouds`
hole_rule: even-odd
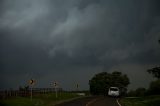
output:
[[[160,63],[159,0],[0,0],[0,90],[57,81],[89,89],[99,72],[148,87]]]

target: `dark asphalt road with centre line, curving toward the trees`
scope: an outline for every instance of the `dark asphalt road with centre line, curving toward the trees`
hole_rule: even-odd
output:
[[[57,106],[119,106],[116,100],[116,98],[104,96],[86,97],[62,103]]]

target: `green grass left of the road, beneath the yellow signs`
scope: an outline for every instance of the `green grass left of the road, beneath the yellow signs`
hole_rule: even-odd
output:
[[[31,101],[30,97],[14,97],[0,100],[0,106],[53,106],[54,104],[65,100],[80,97],[75,93],[61,93],[56,98],[55,93],[34,95]]]

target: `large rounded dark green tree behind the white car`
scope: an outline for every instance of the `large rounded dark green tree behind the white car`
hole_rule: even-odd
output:
[[[96,74],[90,81],[90,92],[94,95],[107,94],[109,87],[116,86],[119,88],[126,88],[129,84],[127,75],[121,72],[101,72]]]

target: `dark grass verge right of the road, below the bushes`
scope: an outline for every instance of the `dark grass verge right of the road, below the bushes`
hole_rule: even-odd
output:
[[[120,100],[122,106],[160,106],[160,95],[139,98],[123,98]]]

